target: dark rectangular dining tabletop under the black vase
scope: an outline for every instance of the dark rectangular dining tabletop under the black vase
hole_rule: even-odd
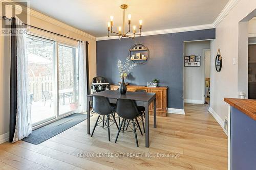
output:
[[[142,102],[151,102],[153,100],[156,93],[142,93],[142,92],[130,92],[127,91],[126,94],[120,94],[118,90],[105,90],[101,92],[97,92],[94,94],[89,94],[87,96],[92,95],[103,95],[106,98],[109,99],[132,99],[136,101],[142,101]]]

